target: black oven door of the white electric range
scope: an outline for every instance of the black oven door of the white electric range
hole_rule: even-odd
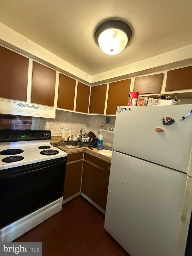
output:
[[[0,171],[0,228],[63,196],[67,158]]]

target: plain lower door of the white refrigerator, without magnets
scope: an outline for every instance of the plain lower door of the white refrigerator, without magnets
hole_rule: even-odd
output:
[[[113,151],[105,229],[131,256],[184,256],[177,238],[186,181],[185,173]]]

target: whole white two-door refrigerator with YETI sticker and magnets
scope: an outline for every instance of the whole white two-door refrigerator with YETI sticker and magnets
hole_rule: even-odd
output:
[[[191,110],[117,107],[104,227],[131,256],[185,254],[192,210]]]

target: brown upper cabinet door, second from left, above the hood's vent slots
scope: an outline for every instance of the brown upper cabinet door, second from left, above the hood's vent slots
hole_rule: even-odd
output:
[[[33,62],[31,102],[54,106],[56,71]]]

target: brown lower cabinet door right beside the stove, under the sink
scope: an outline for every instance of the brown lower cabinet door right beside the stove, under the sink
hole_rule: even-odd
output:
[[[67,164],[65,171],[65,183],[63,199],[73,196],[80,192],[81,189],[81,174],[82,160]]]

